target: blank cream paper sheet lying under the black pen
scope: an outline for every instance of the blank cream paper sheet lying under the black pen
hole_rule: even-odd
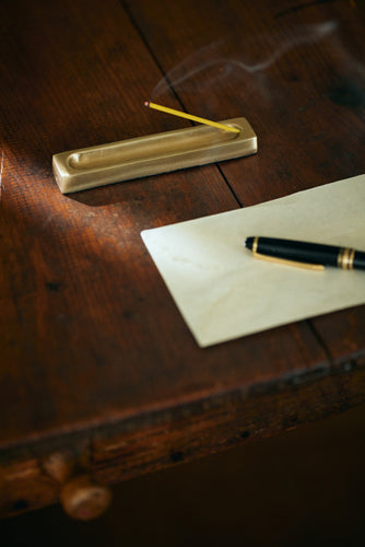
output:
[[[250,235],[365,251],[365,175],[141,233],[199,346],[365,303],[365,271],[260,260]]]

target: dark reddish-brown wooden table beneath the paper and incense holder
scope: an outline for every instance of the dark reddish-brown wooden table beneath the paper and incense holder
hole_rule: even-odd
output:
[[[365,306],[200,349],[140,232],[365,172],[365,4],[0,10],[1,514],[364,401]],[[54,153],[188,126],[150,98],[246,116],[258,154],[61,195]]]

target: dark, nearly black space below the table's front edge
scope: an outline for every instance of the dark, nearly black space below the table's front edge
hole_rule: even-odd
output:
[[[118,485],[99,520],[0,523],[5,546],[361,546],[365,406]]]

